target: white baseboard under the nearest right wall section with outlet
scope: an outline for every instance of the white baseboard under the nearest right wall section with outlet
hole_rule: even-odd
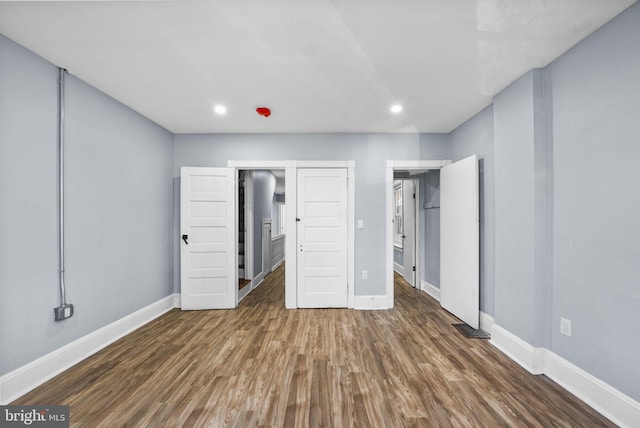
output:
[[[547,350],[544,374],[621,427],[637,427],[640,403],[608,383]]]

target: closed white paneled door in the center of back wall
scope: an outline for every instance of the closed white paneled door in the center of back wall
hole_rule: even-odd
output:
[[[298,307],[347,307],[347,170],[298,169]]]

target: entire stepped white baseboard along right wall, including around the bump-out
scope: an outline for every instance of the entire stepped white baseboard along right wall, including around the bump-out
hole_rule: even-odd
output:
[[[640,402],[554,352],[533,347],[497,324],[490,343],[530,373],[548,376],[616,425],[638,426]]]

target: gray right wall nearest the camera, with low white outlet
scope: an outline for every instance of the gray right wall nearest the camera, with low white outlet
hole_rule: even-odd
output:
[[[640,400],[640,4],[555,61],[551,349]],[[573,336],[559,333],[560,317]]]

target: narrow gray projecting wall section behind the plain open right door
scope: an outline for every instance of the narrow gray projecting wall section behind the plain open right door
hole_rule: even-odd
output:
[[[534,76],[494,98],[495,320],[540,346],[535,328]]]

